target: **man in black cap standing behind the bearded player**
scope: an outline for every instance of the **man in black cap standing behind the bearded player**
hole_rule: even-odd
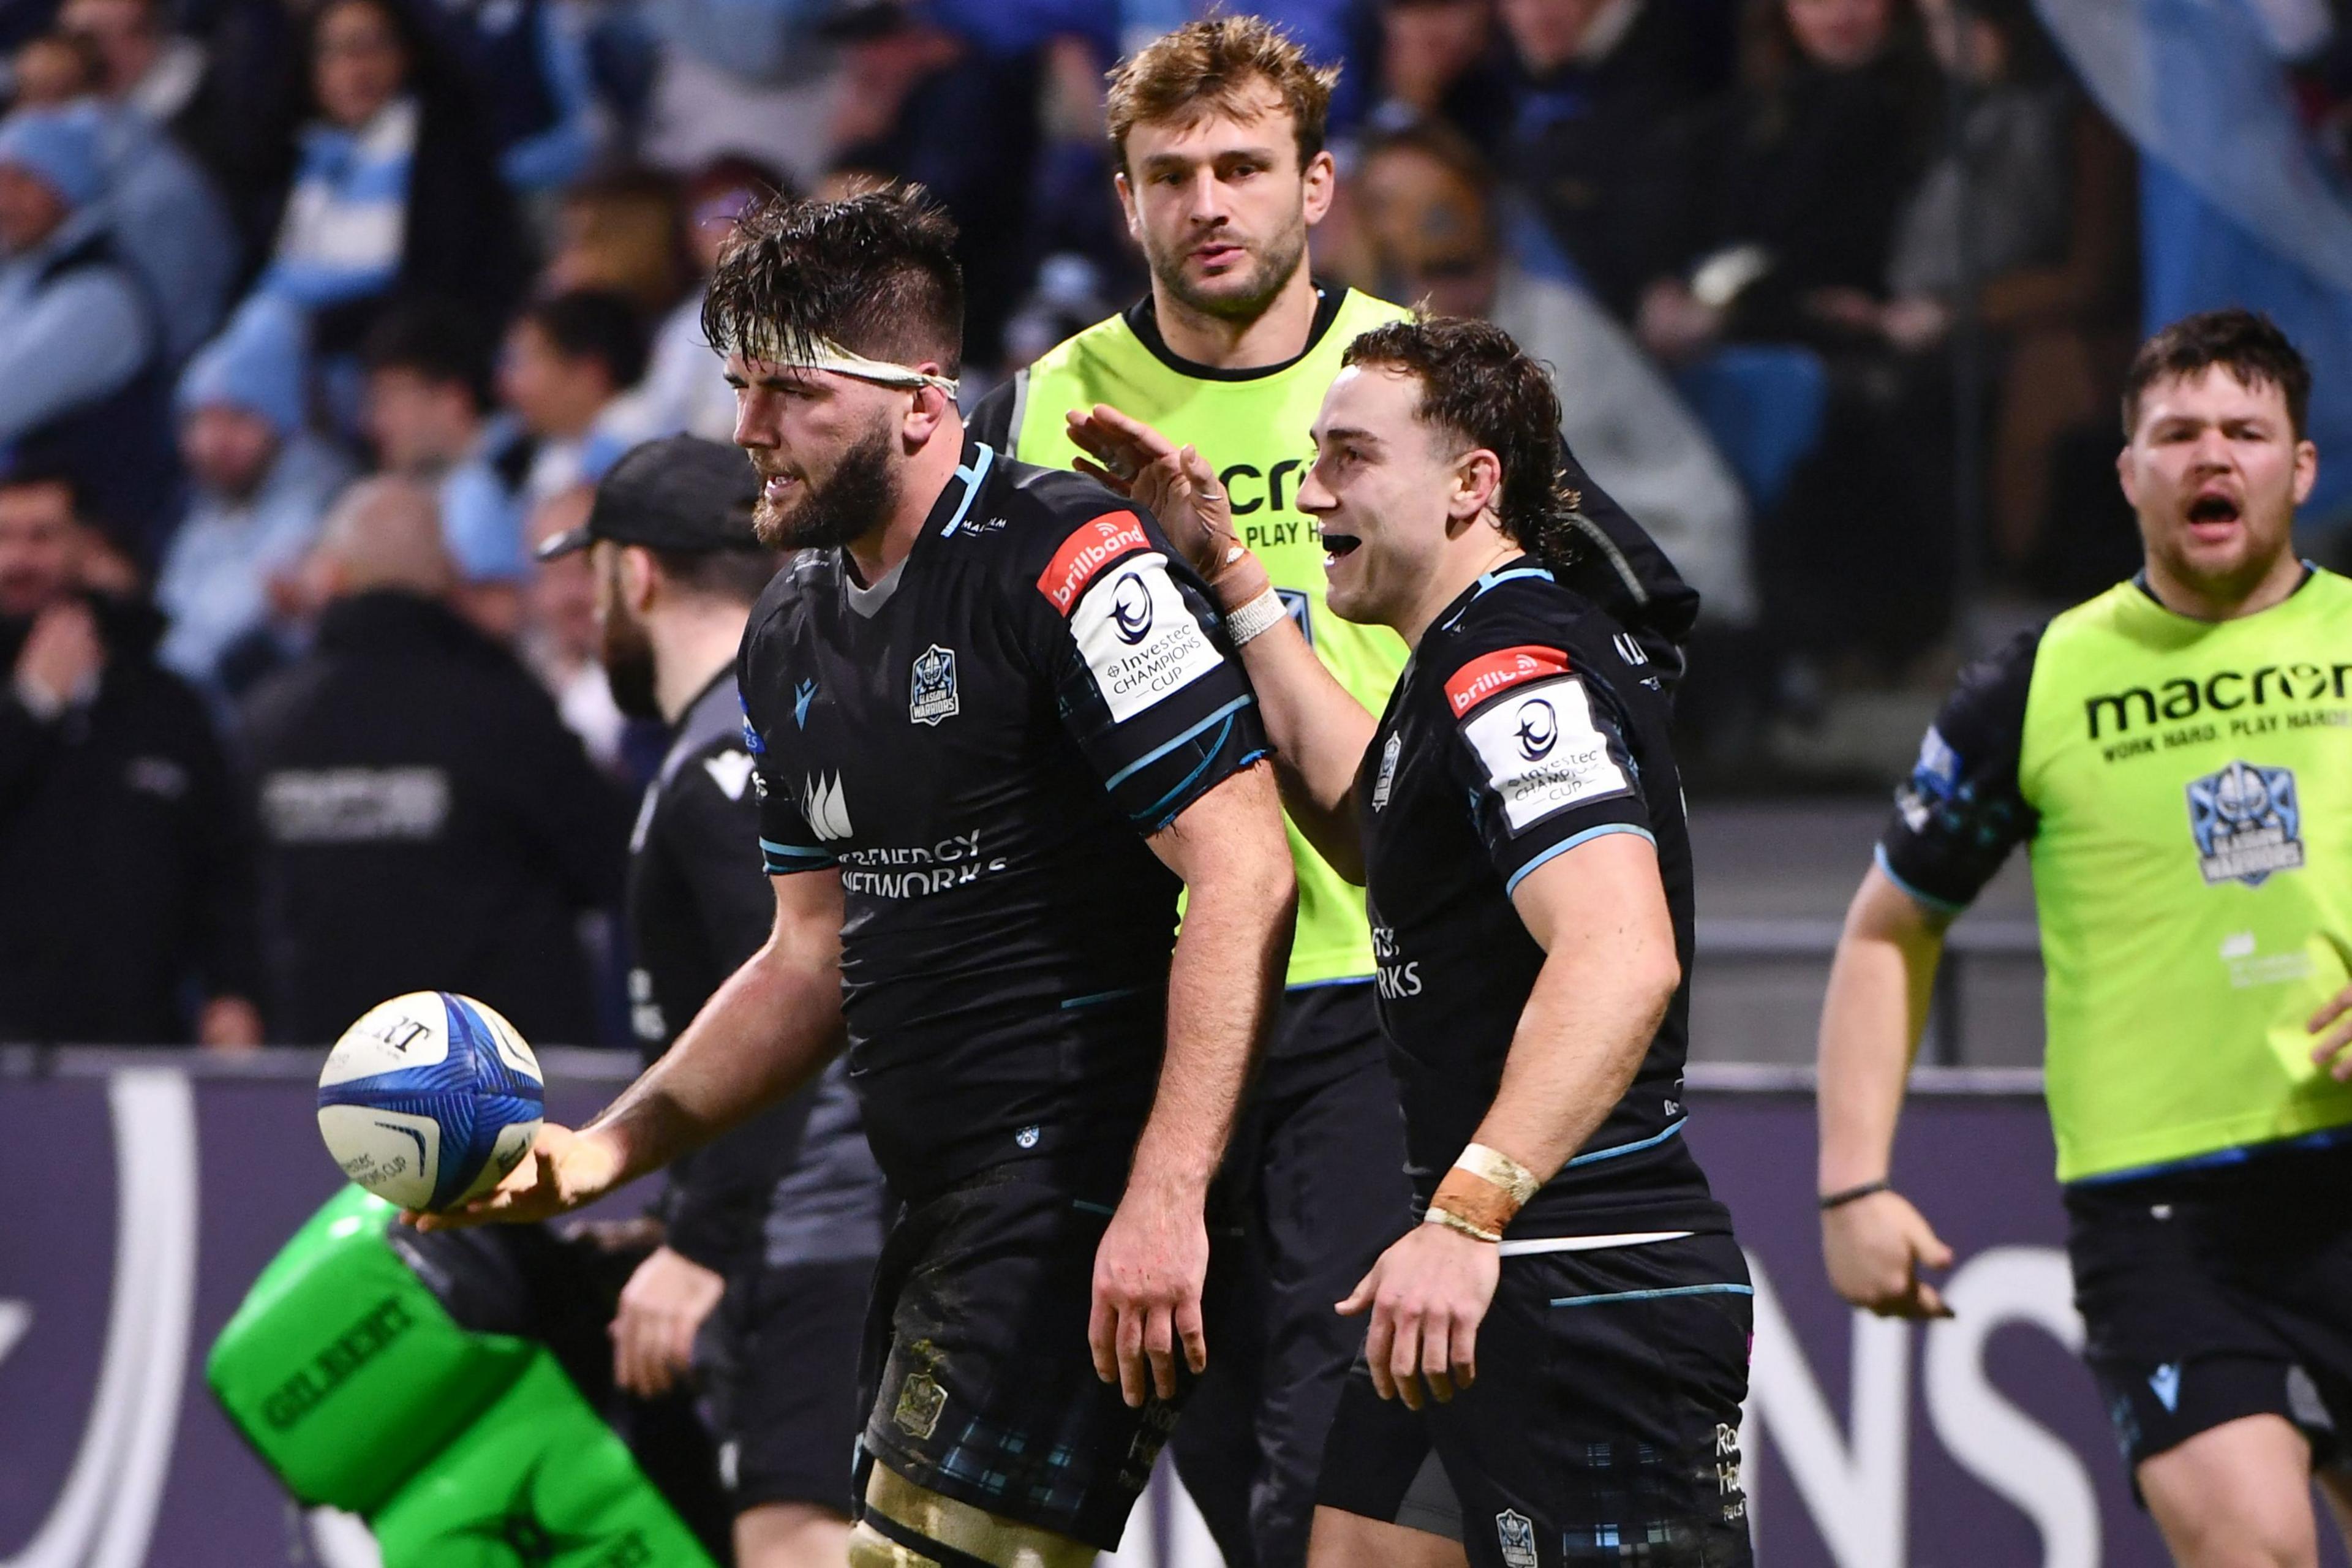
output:
[[[743,623],[779,564],[753,536],[757,489],[734,447],[644,442],[604,475],[588,522],[539,548],[590,552],[614,701],[670,726],[628,860],[630,1025],[647,1060],[774,917],[734,684]],[[858,1429],[858,1335],[882,1248],[882,1175],[840,1063],[677,1161],[663,1218],[663,1246],[621,1291],[614,1380],[661,1396],[696,1368],[701,1340],[739,1568],[840,1563],[840,1460]]]

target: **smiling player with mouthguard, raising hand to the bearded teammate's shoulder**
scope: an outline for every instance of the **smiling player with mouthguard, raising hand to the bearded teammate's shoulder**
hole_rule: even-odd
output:
[[[1748,1563],[1750,1284],[1682,1140],[1665,682],[1562,581],[1581,529],[1543,367],[1461,320],[1376,327],[1343,362],[1298,501],[1331,611],[1414,651],[1378,724],[1202,456],[1087,418],[1211,576],[1291,820],[1367,886],[1423,1222],[1338,1302],[1369,1324],[1308,1561]]]

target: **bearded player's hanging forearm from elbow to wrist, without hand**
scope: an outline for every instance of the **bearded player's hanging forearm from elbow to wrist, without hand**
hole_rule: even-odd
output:
[[[1282,987],[1298,886],[1279,832],[1190,882],[1169,957],[1167,1058],[1131,1190],[1195,1201],[1216,1175]],[[1270,853],[1268,853],[1270,846]]]

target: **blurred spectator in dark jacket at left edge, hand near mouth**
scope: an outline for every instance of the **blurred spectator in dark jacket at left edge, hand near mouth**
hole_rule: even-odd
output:
[[[259,1044],[219,741],[155,611],[87,592],[82,552],[68,480],[0,482],[0,1039]]]

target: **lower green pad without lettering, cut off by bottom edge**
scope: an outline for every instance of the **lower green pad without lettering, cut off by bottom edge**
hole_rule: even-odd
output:
[[[383,1568],[710,1568],[546,1349],[367,1523]]]

